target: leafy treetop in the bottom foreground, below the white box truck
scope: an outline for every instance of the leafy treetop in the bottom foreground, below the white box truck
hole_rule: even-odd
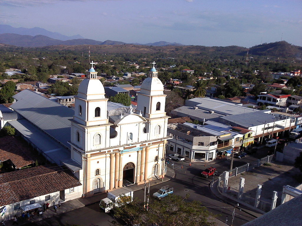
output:
[[[186,225],[214,225],[208,222],[212,216],[201,202],[188,202],[185,198],[170,195],[164,200],[151,199],[148,211],[143,210],[143,203],[138,200],[116,208],[114,211],[114,225],[121,225],[117,219],[123,220],[127,225],[149,226],[156,223],[164,226]]]

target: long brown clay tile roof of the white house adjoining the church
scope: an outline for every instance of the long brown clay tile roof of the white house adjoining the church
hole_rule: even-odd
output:
[[[54,171],[45,166],[3,173],[0,174],[0,206],[80,185],[76,178],[66,172]]]

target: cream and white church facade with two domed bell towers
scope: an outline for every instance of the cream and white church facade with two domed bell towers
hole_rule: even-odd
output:
[[[107,115],[108,99],[93,67],[80,83],[69,143],[71,159],[82,166],[76,176],[85,196],[164,177],[169,116],[154,64],[135,113]]]

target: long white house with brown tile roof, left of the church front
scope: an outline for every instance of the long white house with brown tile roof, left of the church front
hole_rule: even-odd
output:
[[[82,196],[82,184],[59,167],[37,166],[3,173],[0,187],[0,207],[6,206],[6,220],[22,212],[42,215],[46,202],[53,206]]]

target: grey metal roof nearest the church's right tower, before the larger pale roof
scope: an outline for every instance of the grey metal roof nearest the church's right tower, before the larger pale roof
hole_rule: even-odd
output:
[[[173,115],[179,115],[181,117],[185,117],[185,116],[189,116],[189,117],[195,117],[195,118],[199,118],[200,120],[202,119],[211,119],[211,118],[218,118],[221,117],[223,115],[219,115],[216,113],[211,114],[208,111],[202,110],[202,109],[194,109],[192,107],[189,106],[182,106],[179,108],[176,108],[174,110],[171,111],[171,113]],[[180,114],[178,114],[180,113]]]

